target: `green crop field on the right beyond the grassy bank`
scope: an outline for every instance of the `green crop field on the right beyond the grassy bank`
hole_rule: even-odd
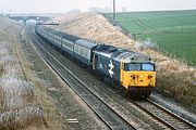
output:
[[[168,55],[196,65],[196,10],[118,13],[117,23],[137,40],[150,38]]]

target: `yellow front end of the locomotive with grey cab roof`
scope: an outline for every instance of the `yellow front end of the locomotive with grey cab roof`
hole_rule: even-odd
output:
[[[136,54],[121,60],[121,86],[131,96],[149,96],[156,86],[155,64],[149,57]]]

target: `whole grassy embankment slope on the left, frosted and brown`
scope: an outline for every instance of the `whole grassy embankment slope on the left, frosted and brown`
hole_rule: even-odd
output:
[[[20,29],[17,24],[0,17],[0,129],[60,129],[60,122],[52,120],[58,115],[52,100],[40,86],[28,80],[39,82],[34,72],[28,70],[23,49],[17,50]]]

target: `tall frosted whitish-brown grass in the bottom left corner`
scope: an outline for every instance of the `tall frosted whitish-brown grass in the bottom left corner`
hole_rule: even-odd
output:
[[[0,129],[21,129],[32,123],[41,125],[42,109],[39,105],[35,105],[32,84],[19,75],[22,73],[14,56],[8,52],[0,57],[5,65],[0,78]]]

